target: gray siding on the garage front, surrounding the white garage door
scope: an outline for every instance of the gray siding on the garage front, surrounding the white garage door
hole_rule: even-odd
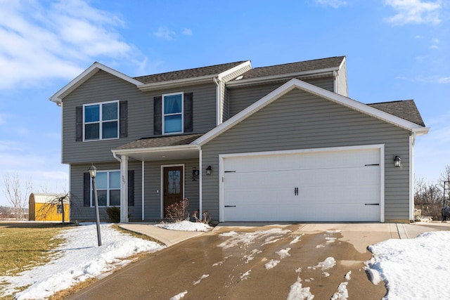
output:
[[[203,169],[216,170],[203,176],[203,208],[219,219],[219,154],[384,144],[385,220],[409,220],[409,134],[295,89],[203,145]]]

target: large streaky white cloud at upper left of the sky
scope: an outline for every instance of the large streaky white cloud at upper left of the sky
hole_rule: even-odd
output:
[[[0,89],[73,79],[96,60],[139,56],[123,21],[82,0],[0,1]],[[80,67],[82,66],[82,67]]]

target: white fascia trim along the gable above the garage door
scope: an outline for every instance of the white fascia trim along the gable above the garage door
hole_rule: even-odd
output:
[[[338,103],[340,105],[344,105],[346,107],[352,108],[353,110],[363,112],[366,115],[370,115],[377,119],[381,119],[385,122],[394,124],[395,126],[399,126],[408,131],[416,131],[417,133],[420,132],[423,134],[428,132],[428,129],[426,127],[422,127],[418,124],[414,124],[413,122],[409,122],[409,121],[406,121],[405,119],[401,119],[400,117],[390,115],[387,112],[377,110],[373,107],[370,107],[366,104],[360,103],[356,100],[347,98],[345,96],[341,96],[338,93],[333,93],[333,92],[327,91],[326,89],[321,89],[321,88],[319,88],[319,86],[314,86],[313,84],[308,84],[305,81],[301,81],[298,79],[290,79],[290,81],[286,82],[285,84],[280,86],[278,89],[275,89],[271,93],[269,93],[266,96],[264,96],[263,98],[259,99],[257,102],[255,102],[252,105],[250,105],[249,107],[245,108],[245,110],[242,110],[238,114],[236,114],[233,117],[231,117],[230,119],[228,119],[226,122],[220,124],[219,126],[212,129],[211,131],[208,131],[203,136],[200,136],[200,138],[193,141],[191,143],[191,145],[204,145],[208,141],[212,140],[212,138],[218,136],[220,133],[233,127],[234,125],[238,124],[243,119],[249,117],[250,115],[253,115],[258,110],[261,110],[262,107],[269,105],[270,103],[274,102],[274,100],[285,95],[285,93],[288,93],[289,91],[292,91],[293,89],[296,89],[296,88],[301,89],[302,91],[306,91],[308,93],[312,93],[321,98],[326,98],[326,99],[333,101],[335,103]]]

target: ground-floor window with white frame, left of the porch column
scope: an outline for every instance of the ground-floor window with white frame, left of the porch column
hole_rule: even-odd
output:
[[[120,171],[98,171],[96,187],[99,207],[120,207]],[[91,190],[91,206],[94,206],[94,189]]]

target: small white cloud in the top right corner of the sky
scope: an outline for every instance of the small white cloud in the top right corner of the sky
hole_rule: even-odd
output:
[[[396,15],[387,18],[393,25],[432,24],[441,22],[439,13],[442,9],[441,1],[422,0],[385,0],[385,4],[392,6]]]

